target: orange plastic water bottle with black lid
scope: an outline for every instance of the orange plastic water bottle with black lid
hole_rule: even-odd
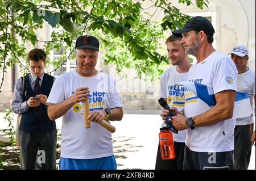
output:
[[[160,128],[159,142],[160,142],[161,158],[174,159],[175,158],[174,138],[172,137],[172,132],[167,127]]]

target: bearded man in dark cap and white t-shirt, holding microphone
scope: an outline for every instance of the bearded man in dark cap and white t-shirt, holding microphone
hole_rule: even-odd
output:
[[[197,60],[189,69],[188,81],[212,87],[217,102],[210,107],[187,90],[184,110],[172,107],[179,114],[171,117],[172,124],[177,130],[188,129],[183,169],[234,169],[232,117],[237,69],[229,56],[212,47],[214,32],[212,24],[202,16],[193,17],[182,29],[172,31],[173,35],[183,37],[185,53]],[[163,120],[167,112],[161,113]]]

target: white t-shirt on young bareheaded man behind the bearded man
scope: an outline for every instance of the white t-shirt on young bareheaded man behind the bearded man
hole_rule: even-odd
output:
[[[188,73],[179,73],[176,66],[164,71],[160,77],[160,98],[166,98],[170,107],[176,107],[179,111],[184,109],[184,87],[175,85],[188,80]],[[162,128],[166,124],[162,124]],[[185,142],[187,130],[172,133],[175,142]]]

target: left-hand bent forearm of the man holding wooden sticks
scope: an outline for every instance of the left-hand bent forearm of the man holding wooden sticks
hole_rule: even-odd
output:
[[[48,116],[51,120],[56,120],[59,117],[63,116],[75,103],[71,102],[71,100],[68,98],[64,100],[61,103],[53,104],[49,103],[48,107]]]

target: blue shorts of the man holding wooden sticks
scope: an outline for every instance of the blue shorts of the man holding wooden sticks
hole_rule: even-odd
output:
[[[117,170],[114,155],[95,159],[73,159],[60,157],[60,170]]]

